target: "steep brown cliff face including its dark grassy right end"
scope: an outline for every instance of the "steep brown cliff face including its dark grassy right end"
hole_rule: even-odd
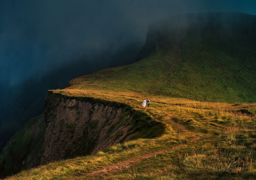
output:
[[[147,114],[121,103],[49,91],[45,107],[47,128],[41,163],[95,153],[134,137],[155,137],[163,130]]]

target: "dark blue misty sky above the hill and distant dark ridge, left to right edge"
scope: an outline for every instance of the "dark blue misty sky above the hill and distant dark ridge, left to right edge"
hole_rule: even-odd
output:
[[[256,1],[0,0],[0,83],[143,42],[150,22],[189,12],[256,14]]]

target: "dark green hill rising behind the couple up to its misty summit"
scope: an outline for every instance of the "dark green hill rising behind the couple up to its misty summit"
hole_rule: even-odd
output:
[[[145,46],[157,47],[151,49],[150,56],[135,64],[76,78],[71,85],[198,101],[256,102],[256,17],[233,22],[236,16],[227,16],[227,21],[215,22],[223,16],[209,16],[213,20],[205,20],[206,25],[183,27],[185,20],[180,18],[174,25],[173,20],[163,23],[170,23],[170,27],[151,28],[148,36],[153,40],[147,37]],[[232,29],[231,18],[233,24],[246,26]],[[211,29],[212,24],[219,28]],[[180,29],[174,29],[178,25]]]

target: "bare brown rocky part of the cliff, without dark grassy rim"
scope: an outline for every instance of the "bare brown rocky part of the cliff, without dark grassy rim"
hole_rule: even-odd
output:
[[[61,99],[54,109],[54,120],[45,119],[41,163],[95,153],[131,139],[136,134],[129,132],[133,117],[125,111],[100,102]]]

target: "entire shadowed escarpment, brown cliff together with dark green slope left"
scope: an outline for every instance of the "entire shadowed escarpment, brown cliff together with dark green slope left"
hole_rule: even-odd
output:
[[[50,161],[94,154],[138,137],[156,137],[164,128],[124,103],[49,91],[44,115],[29,121],[1,153],[0,177]]]

